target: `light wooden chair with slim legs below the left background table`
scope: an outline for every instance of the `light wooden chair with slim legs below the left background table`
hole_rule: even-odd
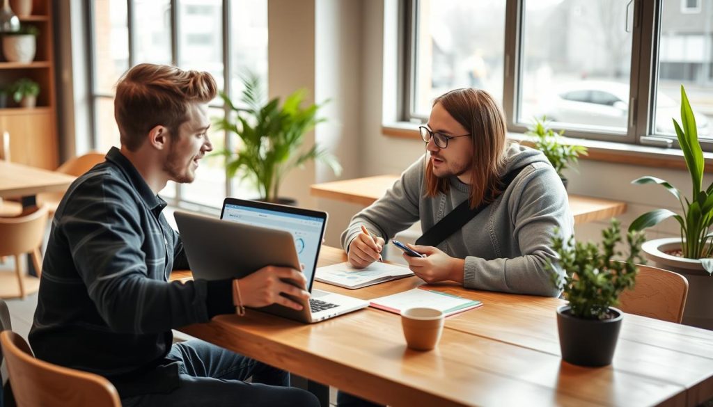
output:
[[[15,257],[15,272],[20,288],[20,297],[25,298],[25,286],[20,266],[20,255],[29,253],[37,270],[42,273],[40,247],[47,224],[46,207],[30,207],[16,217],[0,217],[0,257]]]

